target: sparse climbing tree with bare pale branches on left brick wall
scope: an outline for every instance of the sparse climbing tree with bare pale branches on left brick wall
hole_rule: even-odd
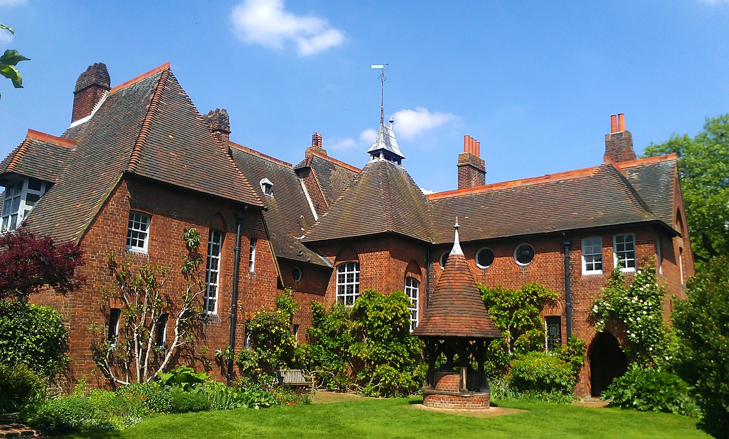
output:
[[[182,258],[181,271],[186,287],[176,298],[165,293],[171,265],[146,264],[134,273],[132,260],[120,261],[114,252],[106,253],[115,285],[111,290],[104,290],[103,300],[108,303],[114,298],[122,303],[124,322],[117,339],[112,341],[103,337],[101,328],[93,324],[89,327],[103,337],[103,341],[91,347],[96,364],[116,384],[152,381],[156,373],[171,365],[182,346],[194,338],[192,327],[202,314],[198,298],[205,292],[200,277],[200,233],[195,228],[186,228],[183,238],[187,256]],[[165,346],[155,346],[155,326],[165,307],[176,310],[174,337]],[[152,354],[162,359],[157,365],[152,365]]]

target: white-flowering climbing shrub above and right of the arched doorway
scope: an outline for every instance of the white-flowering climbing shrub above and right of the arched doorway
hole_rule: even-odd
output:
[[[639,268],[627,287],[620,269],[610,275],[603,296],[593,304],[591,316],[596,330],[609,321],[625,328],[625,353],[642,366],[662,365],[673,357],[668,327],[663,322],[663,288],[658,285],[655,267]]]

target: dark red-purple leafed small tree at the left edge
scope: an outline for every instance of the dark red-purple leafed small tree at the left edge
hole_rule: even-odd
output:
[[[81,248],[73,243],[57,244],[50,236],[38,237],[19,230],[0,236],[0,300],[28,295],[44,286],[65,294],[78,290],[85,277],[76,273],[84,264]]]

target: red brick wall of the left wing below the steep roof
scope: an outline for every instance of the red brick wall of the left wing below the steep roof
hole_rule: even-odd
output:
[[[106,330],[108,310],[112,306],[109,299],[101,294],[103,288],[114,286],[105,262],[105,252],[113,251],[119,256],[130,257],[136,265],[147,263],[171,263],[174,267],[168,276],[165,294],[171,299],[179,297],[184,287],[184,280],[179,273],[180,260],[187,254],[182,241],[184,228],[195,227],[202,236],[200,253],[206,256],[208,232],[211,223],[225,228],[222,244],[222,259],[219,278],[219,302],[217,315],[206,316],[195,328],[198,339],[185,346],[176,361],[195,367],[197,370],[208,370],[216,376],[225,373],[222,362],[215,360],[213,351],[227,346],[230,331],[230,305],[233,290],[233,247],[235,246],[235,212],[241,211],[238,204],[203,197],[196,193],[171,189],[149,182],[126,179],[114,190],[109,201],[90,225],[81,241],[87,260],[82,273],[87,276],[87,285],[66,297],[46,292],[33,298],[36,303],[44,303],[58,308],[71,330],[69,355],[71,364],[67,378],[71,382],[83,376],[94,381],[101,376],[93,363],[90,345],[98,339],[98,334],[88,329],[93,323]],[[152,215],[149,225],[149,244],[147,255],[127,252],[126,233],[130,210],[143,211]],[[256,269],[249,273],[250,239],[258,238],[256,252]],[[270,252],[268,241],[262,228],[260,213],[249,209],[243,224],[241,239],[241,276],[238,284],[238,325],[236,329],[236,346],[243,346],[243,325],[245,316],[262,307],[275,306],[277,289],[276,263]],[[203,264],[204,275],[204,264]],[[308,300],[308,295],[297,293],[297,300]],[[114,304],[118,306],[117,304]],[[167,339],[173,337],[174,306],[168,308]],[[122,318],[123,319],[123,318]],[[120,327],[123,324],[120,322]],[[207,354],[201,351],[207,350]]]

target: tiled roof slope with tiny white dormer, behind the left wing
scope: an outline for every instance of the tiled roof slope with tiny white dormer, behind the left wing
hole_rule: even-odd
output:
[[[331,267],[329,261],[308,249],[298,239],[311,227],[314,219],[291,163],[233,142],[230,142],[230,156],[241,172],[255,184],[257,195],[268,207],[263,216],[276,256]],[[257,182],[263,179],[273,183],[273,197],[262,193]]]

